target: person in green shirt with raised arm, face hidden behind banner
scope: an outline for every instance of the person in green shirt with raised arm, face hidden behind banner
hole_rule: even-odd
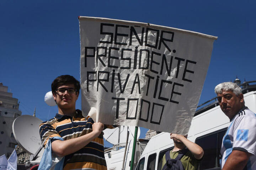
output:
[[[203,158],[203,149],[194,142],[187,139],[187,135],[170,134],[174,140],[174,148],[170,151],[170,158],[175,159],[177,155],[187,148],[188,151],[180,159],[185,170],[197,170],[199,162]],[[166,164],[165,155],[162,159],[162,168]]]

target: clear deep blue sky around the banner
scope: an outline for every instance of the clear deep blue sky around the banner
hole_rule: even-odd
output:
[[[54,78],[80,80],[78,16],[152,23],[218,36],[199,101],[215,85],[255,80],[256,1],[0,1],[0,82],[20,101],[22,114],[46,120],[57,107],[44,102]],[[77,102],[81,108],[81,99]],[[141,136],[145,136],[142,129]]]

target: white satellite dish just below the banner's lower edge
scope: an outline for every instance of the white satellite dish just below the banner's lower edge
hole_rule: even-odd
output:
[[[113,145],[116,145],[117,143],[126,143],[126,138],[127,138],[127,127],[129,133],[129,140],[133,140],[134,138],[134,132],[135,132],[135,126],[124,126],[121,125],[115,129],[105,129],[103,130],[104,135],[103,137],[105,138],[106,141],[112,143]],[[120,129],[120,133],[119,133]],[[140,135],[140,128],[138,127],[138,134],[137,136]],[[119,136],[119,137],[118,137]],[[119,138],[119,142],[118,142]]]

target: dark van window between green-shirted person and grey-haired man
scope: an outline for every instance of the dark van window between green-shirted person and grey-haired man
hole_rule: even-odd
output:
[[[221,159],[220,148],[225,132],[226,128],[196,139],[196,144],[204,150],[203,160],[199,164],[200,170],[219,169]]]

